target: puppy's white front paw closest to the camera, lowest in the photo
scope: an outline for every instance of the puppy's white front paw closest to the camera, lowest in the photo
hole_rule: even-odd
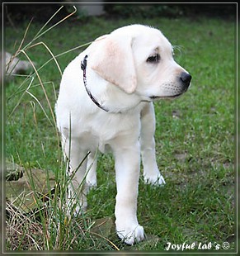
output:
[[[141,225],[116,227],[116,233],[126,244],[133,245],[144,239],[144,228]]]

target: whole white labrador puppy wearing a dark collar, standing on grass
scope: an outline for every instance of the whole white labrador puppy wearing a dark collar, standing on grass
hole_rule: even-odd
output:
[[[153,100],[180,96],[190,83],[167,38],[143,25],[99,37],[64,70],[55,111],[72,175],[68,205],[76,212],[86,208],[87,187],[96,186],[96,150],[109,146],[115,156],[116,232],[126,244],[144,239],[137,220],[140,155],[145,182],[165,183],[155,158]]]

